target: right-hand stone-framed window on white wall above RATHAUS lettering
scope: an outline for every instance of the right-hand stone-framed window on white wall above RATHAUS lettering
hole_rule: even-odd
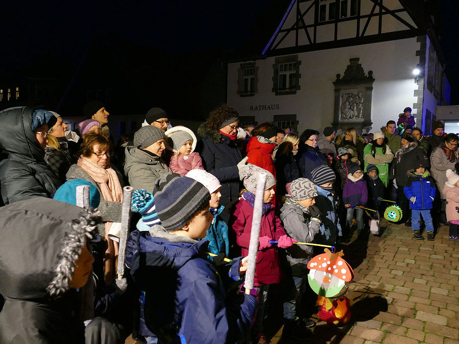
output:
[[[276,95],[296,94],[300,90],[300,65],[298,55],[276,58],[272,90]]]

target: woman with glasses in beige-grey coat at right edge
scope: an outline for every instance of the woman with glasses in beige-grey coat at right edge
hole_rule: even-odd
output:
[[[431,172],[432,177],[437,183],[437,190],[440,192],[441,206],[440,206],[440,222],[447,224],[446,221],[446,197],[443,192],[445,187],[446,170],[451,169],[456,172],[459,166],[456,164],[459,162],[458,154],[458,141],[459,138],[456,134],[448,134],[445,137],[445,142],[440,143],[438,147],[432,150],[430,155],[430,163],[432,165]],[[432,213],[436,213],[433,211]]]

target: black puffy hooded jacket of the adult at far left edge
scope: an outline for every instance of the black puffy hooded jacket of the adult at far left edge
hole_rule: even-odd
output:
[[[45,162],[45,151],[32,131],[35,109],[15,107],[0,112],[0,148],[8,158],[0,164],[4,204],[33,197],[52,198],[62,184]]]

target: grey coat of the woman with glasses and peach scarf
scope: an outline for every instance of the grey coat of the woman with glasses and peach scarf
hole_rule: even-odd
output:
[[[121,187],[123,187],[123,177],[121,173],[112,166],[115,170],[118,180],[120,181]],[[92,179],[86,172],[83,171],[81,167],[74,164],[70,166],[69,171],[67,171],[66,175],[67,180],[73,179],[84,179],[89,183],[93,184],[97,191],[100,193],[100,203],[98,206],[98,210],[100,212],[100,217],[103,222],[110,221],[110,222],[121,222],[121,202],[111,202],[105,201],[102,197],[102,192],[100,191],[99,183],[96,183],[94,179]],[[99,231],[100,236],[105,237],[105,224],[99,223],[97,225],[97,230]]]

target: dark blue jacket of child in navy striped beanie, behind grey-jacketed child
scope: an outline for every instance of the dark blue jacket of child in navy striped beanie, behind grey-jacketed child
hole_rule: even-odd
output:
[[[319,207],[321,213],[322,225],[320,226],[321,238],[316,235],[315,242],[318,244],[336,243],[336,237],[342,236],[341,225],[336,215],[336,206],[333,201],[333,194],[320,186],[316,185],[318,196],[315,197],[315,205]]]

